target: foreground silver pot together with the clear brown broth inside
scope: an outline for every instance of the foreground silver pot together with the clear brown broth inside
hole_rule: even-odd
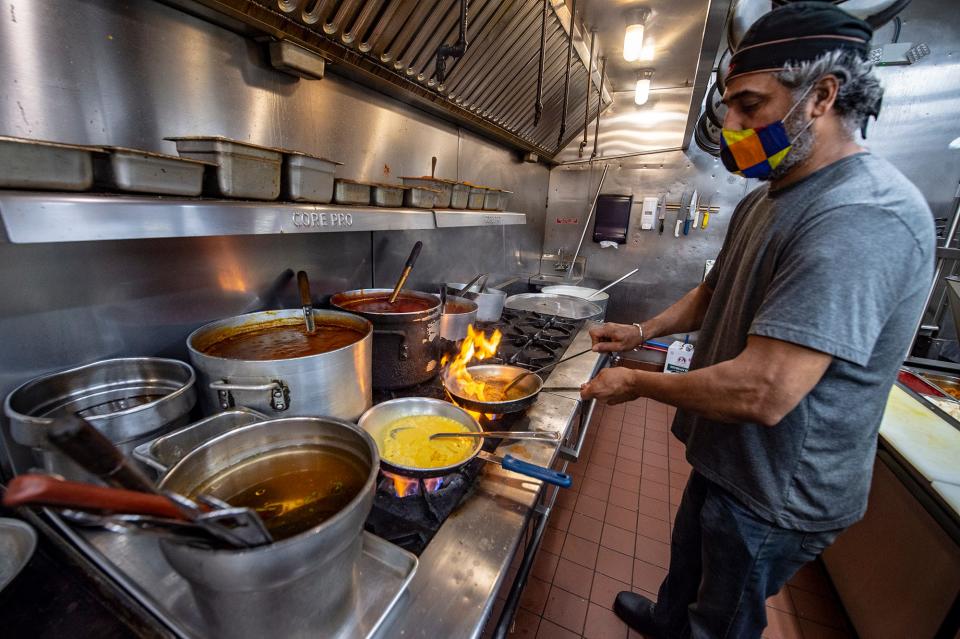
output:
[[[216,637],[325,637],[355,605],[363,522],[380,458],[355,424],[289,417],[202,444],[164,474],[160,490],[252,508],[274,542],[213,549],[161,541]]]

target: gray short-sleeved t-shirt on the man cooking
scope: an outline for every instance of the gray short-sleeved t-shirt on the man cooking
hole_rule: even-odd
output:
[[[773,427],[677,411],[693,467],[779,526],[844,528],[866,510],[887,394],[930,287],[933,216],[886,161],[859,153],[737,206],[706,284],[693,369],[733,359],[748,335],[833,356]]]

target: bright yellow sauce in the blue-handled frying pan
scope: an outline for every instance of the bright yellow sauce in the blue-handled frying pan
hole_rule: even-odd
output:
[[[462,462],[473,454],[473,437],[430,439],[434,433],[465,433],[460,422],[440,415],[410,415],[391,422],[380,443],[380,456],[391,464],[409,468],[441,468]]]

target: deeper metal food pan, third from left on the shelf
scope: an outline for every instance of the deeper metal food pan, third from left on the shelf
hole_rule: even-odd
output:
[[[181,157],[217,165],[204,186],[213,195],[251,200],[280,197],[280,166],[277,149],[219,136],[165,138],[176,142]]]

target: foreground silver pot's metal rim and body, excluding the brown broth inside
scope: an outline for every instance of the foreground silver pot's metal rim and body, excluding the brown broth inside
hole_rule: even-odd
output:
[[[373,506],[380,464],[377,445],[346,421],[274,419],[205,442],[160,480],[160,490],[190,495],[204,487],[223,499],[282,473],[285,460],[313,446],[349,455],[366,472],[360,492],[330,519],[287,539],[242,550],[161,540],[164,557],[190,584],[208,636],[336,635],[356,606],[363,522]]]

